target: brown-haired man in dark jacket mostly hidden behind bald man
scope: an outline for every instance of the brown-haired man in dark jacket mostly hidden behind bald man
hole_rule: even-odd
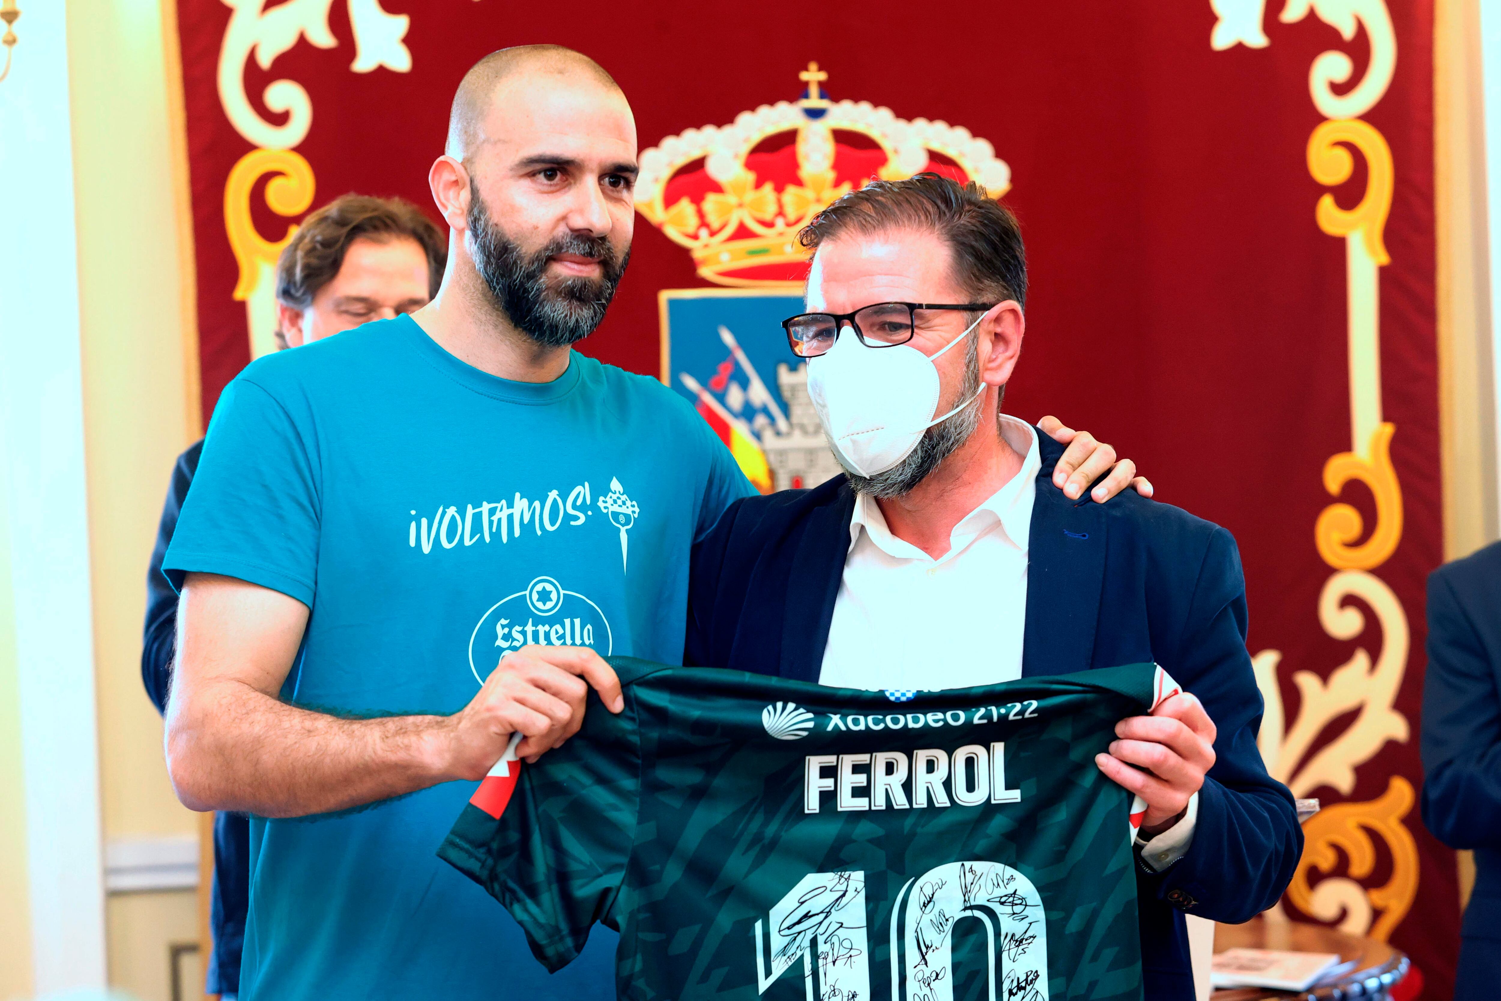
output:
[[[276,261],[276,344],[297,347],[371,320],[428,305],[443,281],[447,242],[422,212],[401,198],[344,195],[309,215]],[[177,513],[198,470],[197,441],[177,456],[162,522],[146,575],[146,645],[141,680],[158,711],[171,687],[177,593],[162,576]],[[240,945],[249,893],[249,821],[213,821],[213,954],[207,990],[233,1001],[240,990]]]

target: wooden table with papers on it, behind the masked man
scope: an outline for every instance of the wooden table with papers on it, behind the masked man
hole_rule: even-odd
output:
[[[1300,953],[1339,953],[1340,962],[1354,965],[1307,990],[1268,990],[1232,987],[1216,990],[1214,1001],[1259,1001],[1261,998],[1298,998],[1300,1001],[1345,1001],[1346,998],[1385,998],[1408,972],[1408,957],[1373,938],[1357,938],[1322,924],[1285,918],[1253,917],[1244,924],[1217,924],[1214,951],[1226,948],[1282,948]]]

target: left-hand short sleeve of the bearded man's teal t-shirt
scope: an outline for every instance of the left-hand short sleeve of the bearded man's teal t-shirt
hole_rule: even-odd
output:
[[[311,417],[242,375],[215,408],[162,567],[179,591],[188,573],[221,573],[312,608],[320,512]]]

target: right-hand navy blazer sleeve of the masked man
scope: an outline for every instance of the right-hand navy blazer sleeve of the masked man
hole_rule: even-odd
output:
[[[1246,651],[1246,582],[1223,528],[1210,534],[1181,641],[1162,666],[1214,720],[1214,767],[1199,789],[1187,854],[1138,882],[1169,903],[1187,894],[1199,917],[1240,924],[1282,897],[1303,855],[1303,830],[1292,794],[1267,774],[1256,749],[1262,702]]]

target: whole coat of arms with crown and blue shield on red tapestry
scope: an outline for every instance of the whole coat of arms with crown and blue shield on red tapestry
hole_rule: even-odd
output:
[[[781,321],[803,308],[797,233],[872,179],[922,171],[977,180],[992,197],[1010,167],[968,129],[833,101],[809,63],[800,101],[687,129],[641,153],[636,210],[717,288],[662,290],[662,381],[686,396],[763,492],[839,474],[808,398],[808,363]]]

